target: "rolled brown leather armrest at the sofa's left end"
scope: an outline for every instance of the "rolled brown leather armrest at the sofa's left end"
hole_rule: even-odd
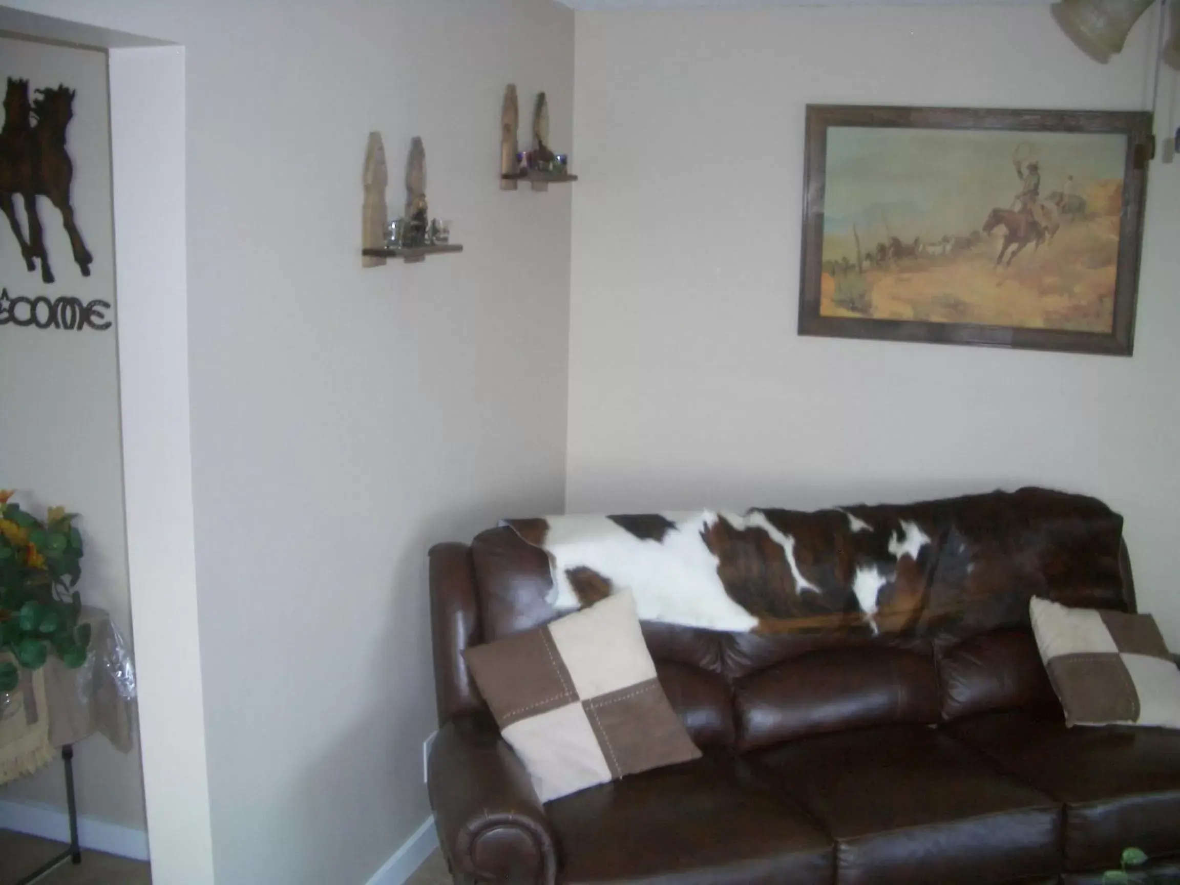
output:
[[[457,881],[553,884],[549,818],[524,763],[489,716],[457,716],[442,726],[428,774],[434,826]]]

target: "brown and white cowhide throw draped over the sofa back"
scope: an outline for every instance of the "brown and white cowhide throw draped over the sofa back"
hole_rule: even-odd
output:
[[[559,610],[630,590],[640,618],[727,631],[922,632],[1028,622],[1032,595],[1122,605],[1122,518],[1022,489],[902,506],[505,522],[549,556]]]

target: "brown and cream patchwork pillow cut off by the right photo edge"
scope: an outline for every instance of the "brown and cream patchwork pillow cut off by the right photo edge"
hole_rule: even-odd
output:
[[[1180,728],[1180,670],[1150,615],[1035,597],[1030,611],[1066,725]]]

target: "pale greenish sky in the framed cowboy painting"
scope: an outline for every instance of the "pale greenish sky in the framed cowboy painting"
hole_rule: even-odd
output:
[[[889,234],[937,240],[979,228],[994,206],[1009,208],[1021,181],[1014,152],[1041,164],[1042,199],[1073,175],[1079,192],[1121,179],[1122,135],[985,132],[833,126],[827,131],[825,234],[865,242]]]

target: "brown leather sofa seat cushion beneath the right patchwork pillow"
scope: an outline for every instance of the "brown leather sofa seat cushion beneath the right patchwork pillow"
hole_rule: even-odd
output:
[[[1180,733],[1066,728],[1060,712],[994,713],[951,734],[1066,806],[1066,868],[1113,870],[1123,848],[1180,852]]]

